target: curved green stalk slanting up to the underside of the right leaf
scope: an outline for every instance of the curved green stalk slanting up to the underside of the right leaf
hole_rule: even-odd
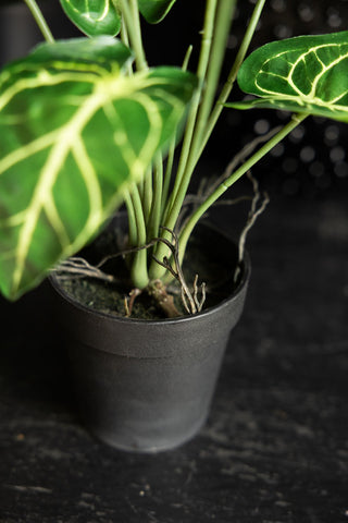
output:
[[[199,221],[199,219],[204,215],[204,212],[216,202],[220,196],[224,194],[227,188],[231,187],[237,180],[239,180],[249,169],[251,169],[258,161],[261,160],[273,147],[275,147],[282,139],[284,139],[291,131],[294,131],[297,125],[299,125],[308,114],[296,114],[293,115],[290,122],[285,125],[277,134],[275,134],[268,143],[265,143],[260,149],[252,155],[248,160],[246,160],[239,169],[237,169],[233,174],[231,174],[227,180],[225,180],[216,190],[195,210],[192,216],[189,218],[185,228],[179,234],[179,257],[183,262],[186,245],[188,239]]]

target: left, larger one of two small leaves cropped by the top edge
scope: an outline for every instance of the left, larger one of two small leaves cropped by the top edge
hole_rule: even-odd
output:
[[[69,19],[86,35],[116,36],[121,14],[112,0],[60,0]]]

